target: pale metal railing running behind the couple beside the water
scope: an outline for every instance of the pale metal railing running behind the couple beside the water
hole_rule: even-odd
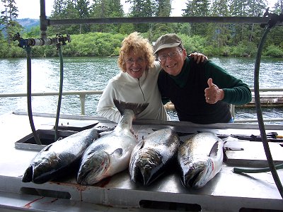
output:
[[[250,88],[253,93],[253,88]],[[279,95],[283,91],[283,88],[260,88],[260,94],[270,93],[270,95]],[[81,115],[86,114],[86,95],[101,95],[103,90],[73,90],[73,91],[63,91],[62,95],[79,95],[81,102]],[[273,94],[272,94],[273,93]],[[283,93],[282,93],[283,94]],[[281,95],[282,95],[281,94]],[[26,97],[26,93],[0,93],[0,98],[20,98]],[[56,96],[59,95],[58,92],[38,92],[32,93],[32,96]],[[232,116],[235,117],[235,105],[231,105]],[[283,122],[283,118],[272,118],[264,119],[265,122]],[[250,123],[258,122],[258,119],[234,119],[235,123]]]

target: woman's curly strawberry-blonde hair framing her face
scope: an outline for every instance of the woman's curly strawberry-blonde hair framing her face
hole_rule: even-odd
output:
[[[133,50],[134,53],[144,53],[144,59],[146,61],[146,70],[154,65],[154,50],[149,40],[141,37],[139,33],[134,32],[129,34],[122,41],[122,47],[120,48],[120,54],[118,58],[118,65],[123,72],[126,72],[125,57],[129,54],[129,51]]]

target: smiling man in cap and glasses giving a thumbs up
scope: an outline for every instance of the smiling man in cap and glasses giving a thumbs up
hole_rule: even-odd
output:
[[[173,102],[180,121],[233,122],[229,104],[244,105],[251,101],[246,83],[212,61],[197,64],[187,57],[178,35],[162,35],[154,49],[163,68],[158,76],[158,88],[162,98]]]

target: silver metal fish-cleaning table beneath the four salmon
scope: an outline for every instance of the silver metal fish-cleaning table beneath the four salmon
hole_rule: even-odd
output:
[[[34,114],[35,129],[53,129],[54,114]],[[59,124],[81,126],[99,122],[115,126],[101,117],[61,115]],[[58,182],[33,184],[21,182],[21,176],[37,151],[15,148],[16,141],[31,134],[28,116],[13,112],[0,116],[0,210],[1,211],[283,211],[283,200],[270,172],[236,174],[233,167],[267,166],[261,142],[229,137],[228,160],[221,172],[202,189],[183,187],[178,172],[171,172],[149,187],[131,182],[125,170],[93,186],[76,184],[75,176]],[[187,122],[149,122],[137,120],[134,131],[139,138],[152,129],[168,128],[183,133],[214,131],[216,134],[260,134],[258,124],[209,124]],[[267,132],[283,135],[283,126],[268,125]],[[180,136],[185,140],[188,136]],[[243,150],[240,150],[243,148]],[[282,143],[270,143],[272,157],[283,163]],[[283,181],[283,170],[278,170]]]

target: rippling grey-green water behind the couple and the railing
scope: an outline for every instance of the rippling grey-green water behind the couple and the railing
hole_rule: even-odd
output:
[[[237,78],[253,87],[255,59],[211,58]],[[26,93],[26,59],[0,59],[0,93]],[[110,78],[119,73],[117,58],[64,58],[64,91],[103,90]],[[283,88],[283,59],[261,59],[260,88]],[[32,92],[59,91],[59,58],[32,59]],[[86,115],[97,115],[100,95],[86,96]],[[33,97],[33,112],[56,113],[57,96]],[[27,111],[26,98],[1,98],[0,114]],[[178,120],[174,111],[171,119]],[[282,118],[282,108],[262,107],[264,118]],[[81,114],[79,96],[63,96],[61,114]],[[256,119],[255,108],[236,107],[236,119]],[[273,124],[270,122],[269,124]],[[277,122],[278,124],[278,122]],[[280,123],[282,124],[282,123]]]

